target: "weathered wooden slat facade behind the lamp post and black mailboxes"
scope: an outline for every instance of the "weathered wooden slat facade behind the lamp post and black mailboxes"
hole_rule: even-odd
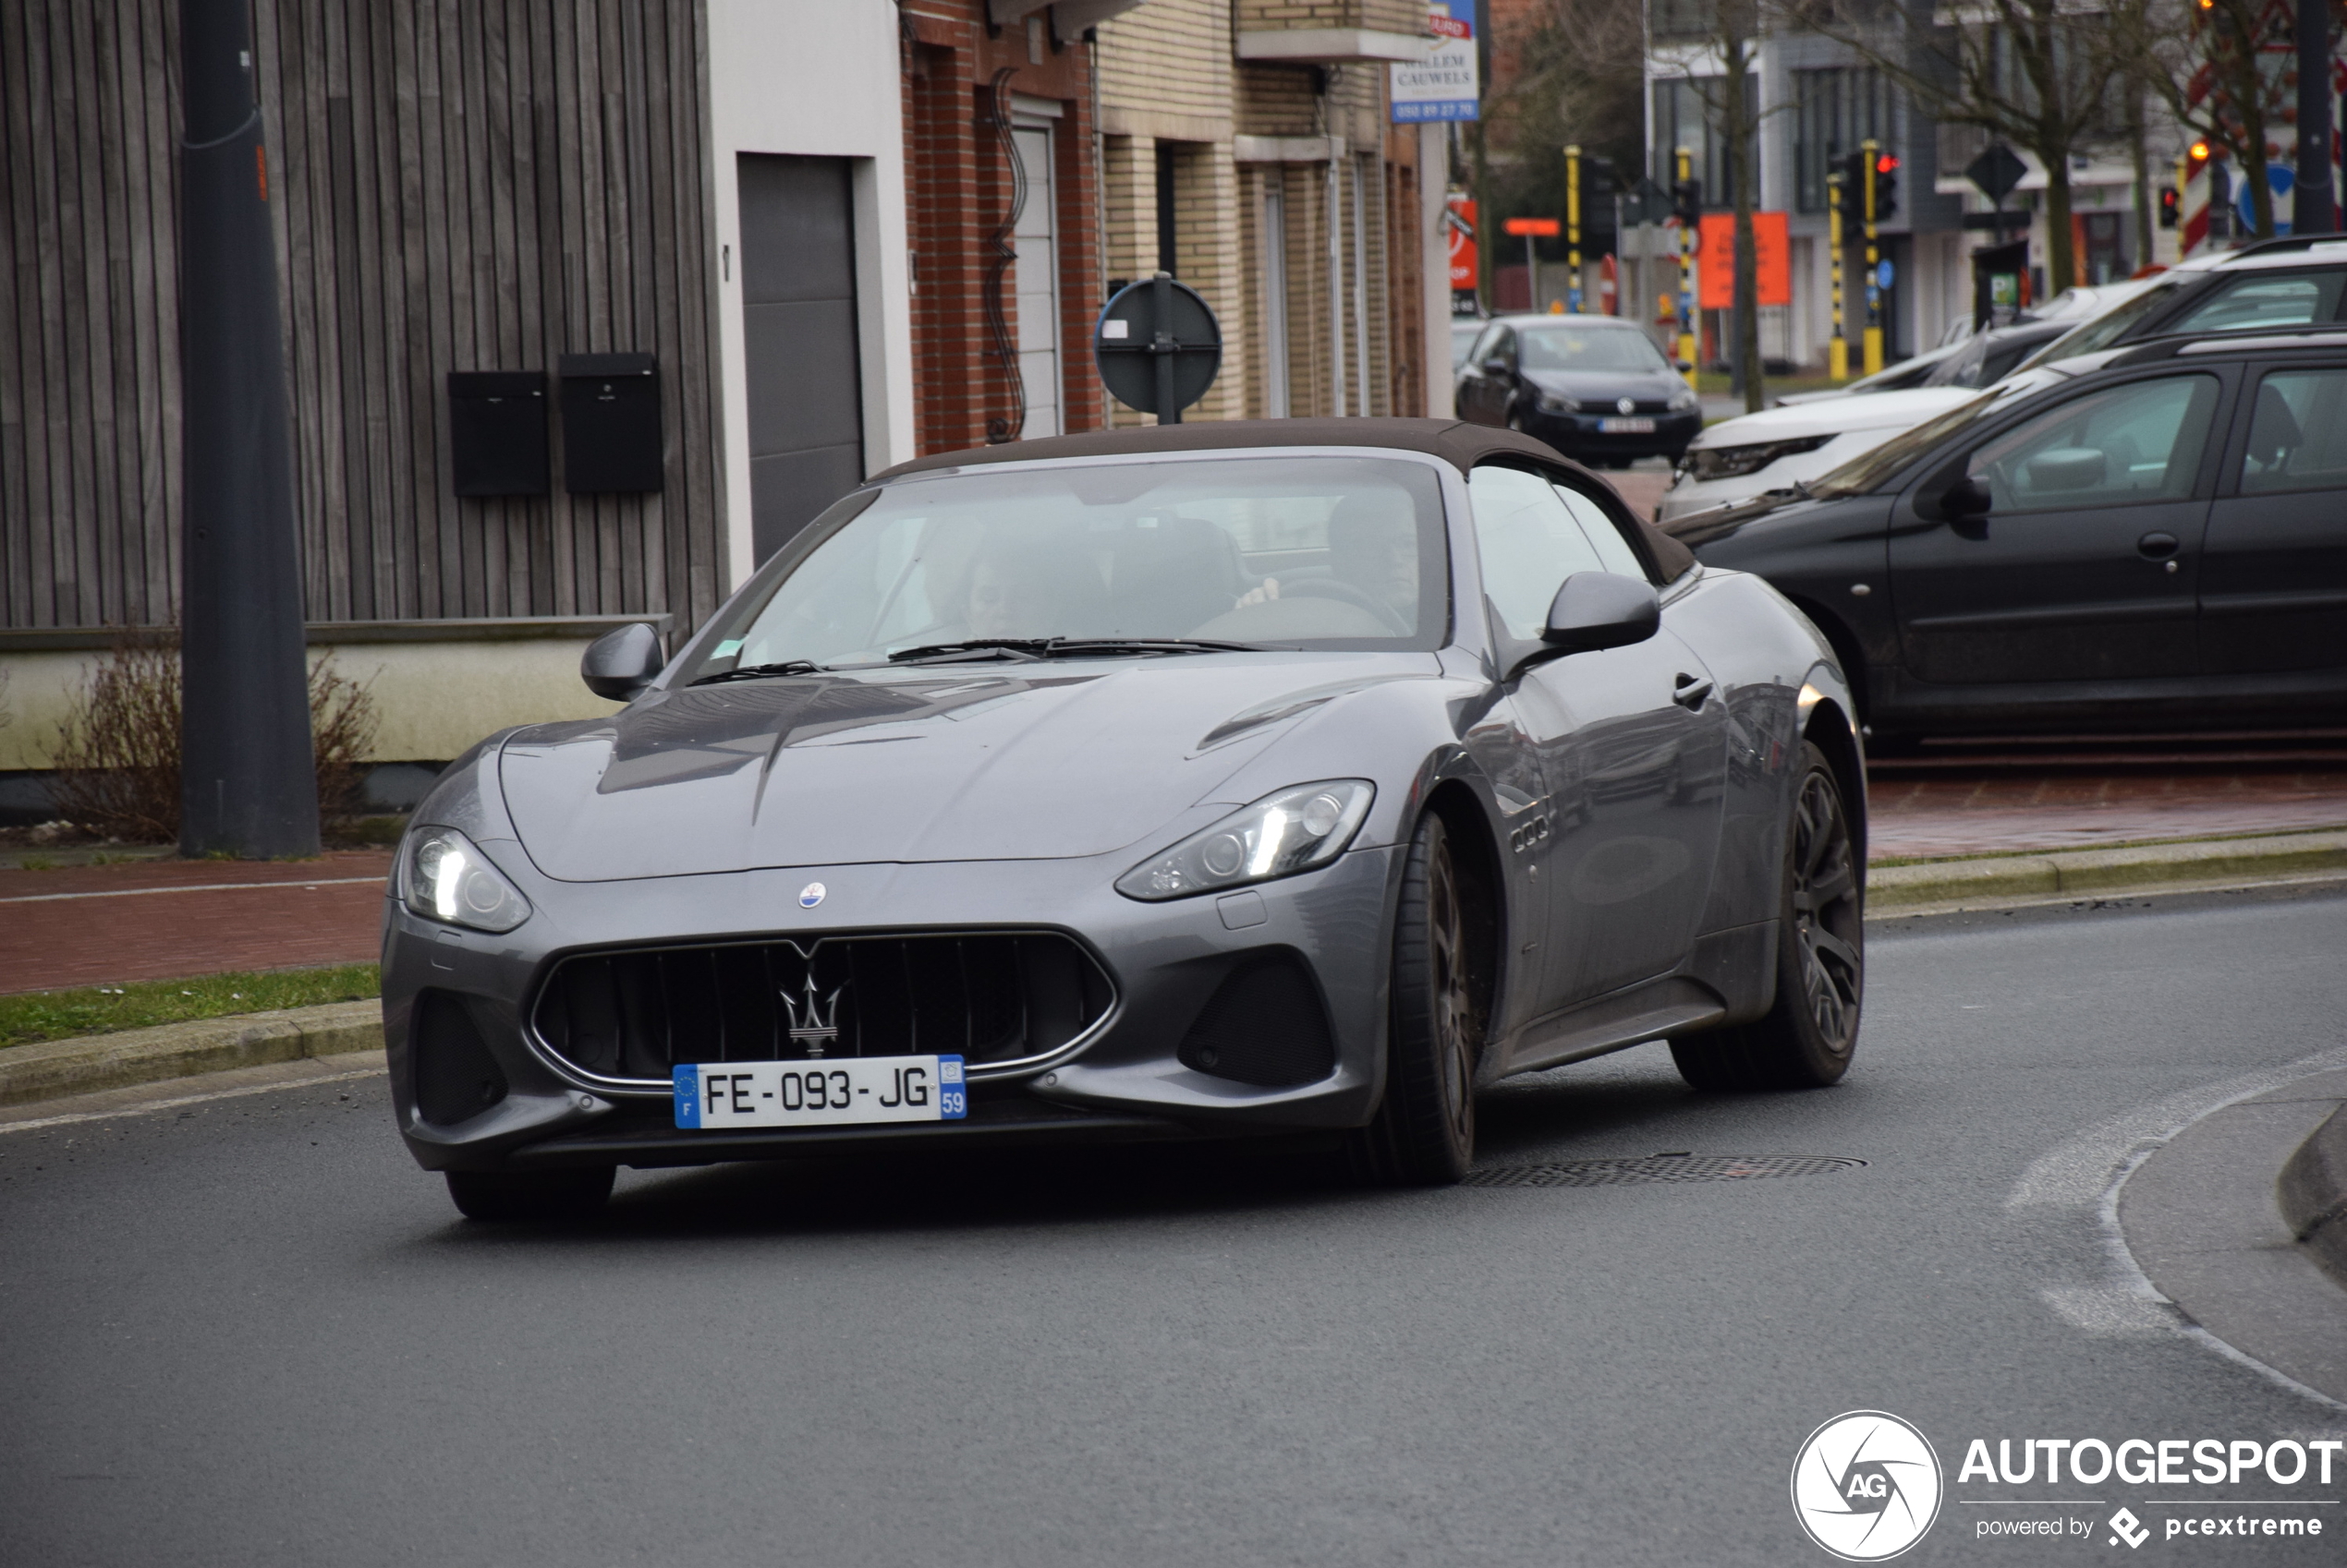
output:
[[[725,579],[699,0],[253,9],[310,619],[697,623]],[[176,0],[0,5],[7,628],[176,619]],[[554,495],[453,495],[448,370],[629,349],[664,492],[566,495],[556,420]]]

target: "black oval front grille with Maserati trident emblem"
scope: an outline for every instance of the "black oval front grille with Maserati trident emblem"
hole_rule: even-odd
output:
[[[1044,1057],[1115,991],[1058,933],[875,935],[575,954],[537,994],[537,1038],[596,1078],[681,1062]]]

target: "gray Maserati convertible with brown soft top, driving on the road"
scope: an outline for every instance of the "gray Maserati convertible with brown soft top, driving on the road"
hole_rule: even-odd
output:
[[[1864,771],[1833,649],[1551,448],[1183,424],[890,469],[608,720],[399,848],[399,1132],[474,1219],[620,1165],[1286,1137],[1457,1181],[1474,1092],[1669,1041],[1833,1083]]]

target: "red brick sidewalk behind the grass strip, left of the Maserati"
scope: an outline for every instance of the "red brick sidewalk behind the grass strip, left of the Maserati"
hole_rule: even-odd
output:
[[[368,963],[390,865],[387,848],[359,848],[0,872],[0,994]]]

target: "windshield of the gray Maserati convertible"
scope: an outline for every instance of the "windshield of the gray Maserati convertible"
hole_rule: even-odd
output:
[[[1049,640],[1434,649],[1448,630],[1441,483],[1420,462],[976,466],[866,495],[760,572],[688,680]]]

